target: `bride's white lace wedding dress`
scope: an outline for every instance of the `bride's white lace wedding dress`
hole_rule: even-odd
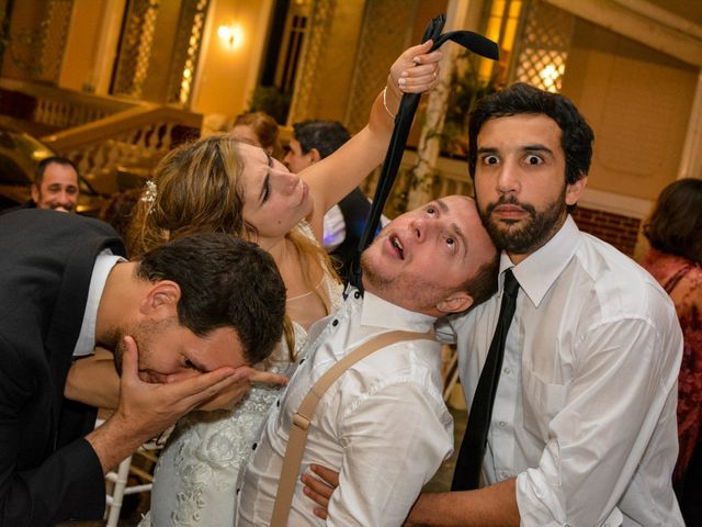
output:
[[[341,303],[341,287],[325,276],[332,310]],[[299,357],[307,333],[293,322]],[[275,373],[292,373],[285,339],[274,352]],[[181,418],[161,451],[151,491],[151,511],[139,527],[231,526],[239,468],[251,451],[280,388],[256,384],[231,411],[194,412]]]

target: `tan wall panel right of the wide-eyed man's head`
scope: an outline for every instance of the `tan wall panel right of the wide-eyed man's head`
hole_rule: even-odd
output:
[[[588,187],[654,200],[677,177],[697,69],[578,19],[563,92],[595,130]]]

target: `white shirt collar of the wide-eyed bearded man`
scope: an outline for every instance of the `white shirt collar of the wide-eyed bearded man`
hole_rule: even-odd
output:
[[[539,307],[551,285],[561,276],[579,245],[580,231],[568,214],[558,232],[539,250],[514,266],[505,251],[500,257],[500,274],[512,268],[514,278],[529,300]],[[500,285],[501,287],[501,285]]]

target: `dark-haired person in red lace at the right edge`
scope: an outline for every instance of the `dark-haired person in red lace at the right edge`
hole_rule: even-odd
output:
[[[641,265],[668,292],[682,327],[678,444],[672,484],[687,525],[702,525],[702,180],[666,187],[644,224],[650,250]]]

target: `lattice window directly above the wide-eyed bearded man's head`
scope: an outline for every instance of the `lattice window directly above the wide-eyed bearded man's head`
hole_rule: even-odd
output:
[[[573,14],[541,0],[529,2],[512,80],[561,91],[574,25]]]

